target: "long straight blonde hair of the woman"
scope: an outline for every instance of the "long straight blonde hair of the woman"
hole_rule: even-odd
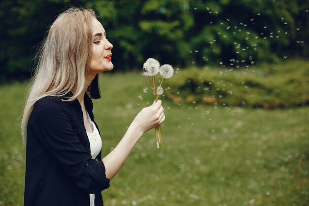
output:
[[[91,59],[93,18],[96,15],[92,9],[74,7],[61,13],[50,26],[39,50],[38,66],[30,83],[24,109],[21,123],[24,143],[30,115],[40,98],[59,97],[76,89],[75,94],[68,99],[73,101],[82,92]],[[98,75],[93,82],[91,85],[98,87]],[[87,91],[91,94],[90,86]]]

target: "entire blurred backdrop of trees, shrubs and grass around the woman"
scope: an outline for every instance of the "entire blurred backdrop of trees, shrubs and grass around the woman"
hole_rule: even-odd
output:
[[[309,206],[308,0],[1,0],[0,206],[23,205],[27,86],[71,6],[93,8],[114,45],[94,101],[104,154],[154,99],[143,62],[175,70],[164,149],[144,134],[105,205]]]

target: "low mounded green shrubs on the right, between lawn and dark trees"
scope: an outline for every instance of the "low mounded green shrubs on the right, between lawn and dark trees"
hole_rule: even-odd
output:
[[[176,103],[195,102],[225,107],[289,108],[309,105],[309,70],[306,61],[231,69],[188,69],[166,85]]]

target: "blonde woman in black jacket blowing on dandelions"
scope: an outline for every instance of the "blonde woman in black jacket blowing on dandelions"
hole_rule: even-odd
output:
[[[101,159],[91,98],[100,98],[99,73],[114,67],[112,48],[91,9],[70,8],[51,25],[22,120],[25,206],[102,206],[101,191],[138,139],[164,121],[161,102],[154,102]]]

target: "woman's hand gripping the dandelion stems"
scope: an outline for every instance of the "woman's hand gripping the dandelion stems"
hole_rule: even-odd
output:
[[[154,101],[153,105],[145,107],[137,114],[130,126],[142,132],[142,134],[165,120],[164,109],[161,100]]]

